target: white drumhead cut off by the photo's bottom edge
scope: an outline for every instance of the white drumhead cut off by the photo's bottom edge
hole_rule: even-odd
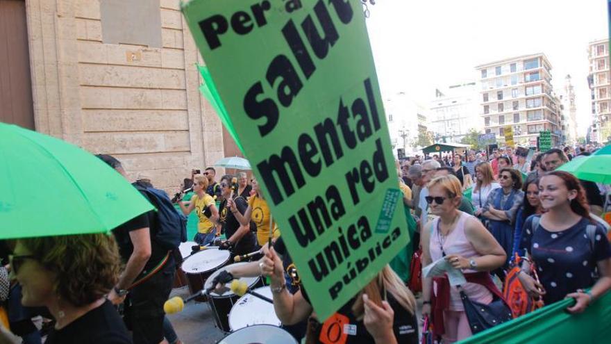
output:
[[[217,344],[298,344],[287,331],[274,325],[254,325],[228,334]]]

